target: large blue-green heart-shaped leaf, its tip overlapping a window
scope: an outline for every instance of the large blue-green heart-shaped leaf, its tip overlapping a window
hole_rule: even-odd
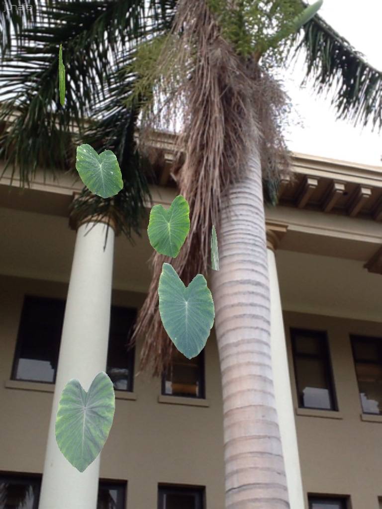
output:
[[[207,281],[198,274],[186,288],[174,268],[163,263],[159,278],[159,313],[163,327],[187,359],[204,348],[215,318]]]

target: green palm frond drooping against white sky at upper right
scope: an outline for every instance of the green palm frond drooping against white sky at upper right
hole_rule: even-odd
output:
[[[306,77],[312,76],[318,93],[334,93],[339,118],[354,124],[382,128],[382,72],[320,16],[304,26],[296,54],[305,51]]]

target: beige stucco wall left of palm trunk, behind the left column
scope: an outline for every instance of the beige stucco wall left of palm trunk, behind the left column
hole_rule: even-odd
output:
[[[67,286],[0,276],[0,289],[0,471],[41,473],[52,393],[5,385],[10,379],[24,294],[65,298]],[[113,293],[116,305],[140,306],[142,302],[142,294]],[[135,373],[139,349],[140,345]],[[129,508],[155,509],[158,483],[205,486],[208,508],[223,507],[222,399],[212,337],[205,349],[205,363],[208,407],[158,403],[160,381],[144,374],[134,380],[136,400],[116,400],[100,476],[128,481]]]

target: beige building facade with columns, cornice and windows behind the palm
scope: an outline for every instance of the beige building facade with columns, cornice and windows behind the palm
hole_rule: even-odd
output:
[[[166,172],[151,191],[168,207],[176,188]],[[295,155],[293,177],[266,207],[280,427],[292,437],[288,485],[297,493],[299,477],[304,498],[291,507],[379,509],[382,167]],[[69,227],[81,188],[72,180],[0,182],[0,509],[54,509],[66,496],[68,509],[222,509],[213,331],[162,379],[139,372],[142,342],[126,344],[150,282],[145,225],[134,245],[112,231],[103,249],[105,225]],[[87,390],[105,370],[114,423],[79,474],[60,456],[52,416],[63,384],[78,378]]]

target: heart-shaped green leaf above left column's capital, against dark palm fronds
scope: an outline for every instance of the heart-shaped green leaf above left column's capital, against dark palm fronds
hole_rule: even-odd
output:
[[[86,187],[97,196],[110,198],[123,188],[121,169],[111,150],[97,154],[90,145],[79,145],[75,167]]]

